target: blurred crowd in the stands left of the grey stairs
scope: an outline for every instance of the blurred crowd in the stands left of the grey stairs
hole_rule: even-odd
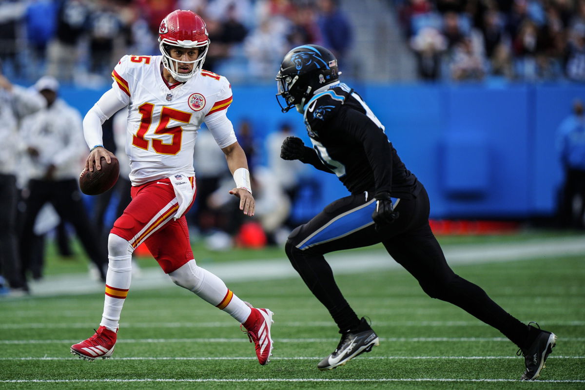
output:
[[[274,80],[300,44],[343,58],[351,43],[336,0],[2,0],[0,58],[18,80],[49,74],[99,85],[123,55],[160,54],[160,21],[175,9],[204,18],[212,42],[205,68],[232,82]]]

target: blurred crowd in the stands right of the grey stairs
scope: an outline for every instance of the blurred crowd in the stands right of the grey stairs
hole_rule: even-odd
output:
[[[393,0],[423,80],[585,81],[584,0]]]

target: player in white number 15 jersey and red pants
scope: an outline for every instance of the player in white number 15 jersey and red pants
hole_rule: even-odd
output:
[[[225,77],[205,71],[209,47],[205,22],[191,11],[174,11],[160,24],[161,56],[124,56],[112,72],[112,89],[84,118],[90,155],[85,168],[101,169],[101,157],[113,154],[102,146],[102,123],[128,106],[126,153],[130,160],[132,202],[116,220],[108,237],[109,268],[104,313],[99,329],[71,346],[71,353],[94,360],[112,355],[123,302],[130,288],[132,252],[145,243],[171,280],[228,312],[254,342],[260,364],[272,351],[273,313],[246,305],[221,279],[195,263],[185,212],[195,198],[193,149],[205,122],[225,153],[235,180],[230,194],[240,210],[254,215],[250,174],[226,109],[232,91]]]

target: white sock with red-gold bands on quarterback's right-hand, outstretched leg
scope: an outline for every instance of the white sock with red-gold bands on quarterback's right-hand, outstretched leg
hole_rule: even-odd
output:
[[[188,261],[168,275],[175,284],[194,292],[199,298],[225,311],[240,323],[245,322],[250,315],[249,306],[233,294],[222,279],[199,267],[195,260]]]

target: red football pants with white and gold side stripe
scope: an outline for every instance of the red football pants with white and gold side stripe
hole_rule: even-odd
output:
[[[194,178],[189,180],[195,188]],[[128,240],[134,249],[145,243],[167,274],[192,260],[187,219],[185,215],[173,219],[178,202],[171,181],[162,179],[132,187],[130,195],[132,201],[116,219],[110,233]],[[193,201],[187,211],[192,205]]]

